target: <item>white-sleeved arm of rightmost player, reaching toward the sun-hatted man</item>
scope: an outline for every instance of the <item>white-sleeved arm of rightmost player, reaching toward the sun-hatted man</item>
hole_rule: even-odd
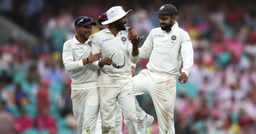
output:
[[[153,50],[153,30],[150,31],[147,39],[139,48],[139,57],[140,58],[148,58]]]

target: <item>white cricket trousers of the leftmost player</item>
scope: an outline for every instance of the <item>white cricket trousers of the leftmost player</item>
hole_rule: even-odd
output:
[[[98,89],[72,90],[71,100],[78,134],[94,134],[100,109]]]

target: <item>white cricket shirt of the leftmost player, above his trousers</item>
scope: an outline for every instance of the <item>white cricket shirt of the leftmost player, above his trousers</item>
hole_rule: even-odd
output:
[[[82,59],[90,56],[91,36],[85,44],[80,43],[75,36],[64,43],[62,52],[65,69],[71,71],[71,88],[72,90],[97,89],[98,69],[93,70],[90,64],[84,66],[82,63]]]

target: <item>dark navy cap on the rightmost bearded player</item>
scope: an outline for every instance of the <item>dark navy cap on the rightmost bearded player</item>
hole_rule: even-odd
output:
[[[179,14],[178,10],[172,4],[164,4],[160,7],[159,11],[154,14],[168,14],[168,15],[175,15]]]

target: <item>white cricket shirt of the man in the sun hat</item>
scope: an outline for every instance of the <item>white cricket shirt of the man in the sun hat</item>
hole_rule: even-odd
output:
[[[93,69],[100,69],[98,87],[132,85],[131,62],[137,63],[139,55],[132,56],[132,43],[127,36],[128,31],[120,30],[115,37],[108,28],[93,35],[93,54],[100,53],[101,59],[105,56],[109,58],[113,56],[112,60],[117,66],[124,65],[124,67],[117,69],[113,65],[99,67],[98,62],[91,63]]]

